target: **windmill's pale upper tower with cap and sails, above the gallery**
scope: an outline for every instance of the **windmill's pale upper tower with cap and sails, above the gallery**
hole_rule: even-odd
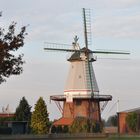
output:
[[[46,42],[49,47],[44,48],[49,51],[71,52],[72,55],[68,59],[71,62],[69,74],[64,89],[64,94],[69,95],[91,95],[99,93],[96,77],[92,67],[92,62],[95,61],[93,54],[129,54],[124,51],[92,51],[89,50],[91,45],[91,21],[90,9],[83,8],[83,21],[84,21],[84,36],[85,47],[80,49],[77,43],[78,37],[75,36],[72,45],[58,44]],[[65,47],[71,46],[71,49]]]

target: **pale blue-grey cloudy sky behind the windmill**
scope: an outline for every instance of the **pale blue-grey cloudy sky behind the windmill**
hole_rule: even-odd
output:
[[[140,107],[140,1],[139,0],[0,0],[0,26],[7,29],[12,21],[27,26],[23,74],[12,76],[0,85],[0,110],[8,104],[15,111],[25,96],[34,109],[38,98],[46,101],[50,119],[61,116],[50,96],[63,94],[69,69],[69,54],[45,52],[44,42],[71,44],[79,37],[84,46],[82,8],[91,9],[92,50],[126,50],[129,56],[98,55],[93,68],[100,94],[113,96],[102,117],[119,110]],[[113,59],[107,59],[107,58]],[[114,59],[120,58],[120,59]]]

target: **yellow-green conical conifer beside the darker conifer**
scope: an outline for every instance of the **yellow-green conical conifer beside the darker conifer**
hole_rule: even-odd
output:
[[[49,132],[48,116],[45,101],[40,97],[31,116],[31,128],[35,134],[46,134]]]

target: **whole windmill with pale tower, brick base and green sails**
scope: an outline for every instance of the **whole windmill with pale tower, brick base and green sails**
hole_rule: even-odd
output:
[[[91,45],[91,22],[90,9],[83,8],[84,38],[85,46],[80,47],[78,37],[74,37],[71,49],[62,48],[63,44],[46,43],[44,50],[71,52],[67,59],[70,62],[69,74],[63,95],[52,95],[51,100],[56,102],[62,117],[53,125],[71,125],[76,117],[85,117],[89,120],[101,122],[101,111],[108,101],[112,100],[111,95],[100,95],[92,62],[96,61],[93,54],[126,54],[120,51],[94,51],[90,50]],[[63,102],[61,106],[60,102]],[[100,102],[104,102],[100,107]]]

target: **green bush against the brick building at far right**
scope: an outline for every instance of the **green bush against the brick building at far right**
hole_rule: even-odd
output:
[[[138,117],[137,113],[131,112],[126,117],[126,122],[128,124],[128,127],[133,131],[136,132],[137,130],[137,123],[138,123]]]

